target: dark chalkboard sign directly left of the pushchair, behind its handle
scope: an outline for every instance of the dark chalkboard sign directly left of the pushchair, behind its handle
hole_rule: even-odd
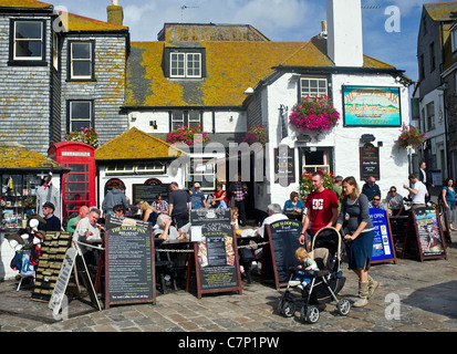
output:
[[[269,243],[262,251],[261,280],[273,280],[279,290],[289,281],[289,268],[299,266],[295,250],[299,247],[304,248],[299,241],[302,226],[300,221],[288,219],[266,225],[264,228]]]

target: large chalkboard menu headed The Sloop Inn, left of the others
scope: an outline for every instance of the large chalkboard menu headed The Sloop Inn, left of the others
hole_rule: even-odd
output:
[[[105,238],[105,309],[155,303],[155,258],[150,223],[108,216]]]

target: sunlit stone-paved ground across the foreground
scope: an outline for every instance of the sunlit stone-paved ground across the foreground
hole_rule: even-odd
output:
[[[456,232],[453,235],[456,239]],[[397,253],[398,256],[398,253]],[[31,300],[31,290],[15,291],[17,281],[0,283],[1,332],[455,332],[457,331],[457,243],[447,260],[397,259],[372,266],[381,282],[370,304],[347,316],[326,304],[318,323],[281,316],[276,306],[284,289],[242,282],[242,294],[204,294],[184,290],[157,292],[156,304],[116,305],[95,311],[86,299],[72,299],[69,319],[56,321],[48,303]],[[340,295],[354,300],[356,278],[347,278]],[[399,306],[397,306],[399,304]],[[387,314],[387,315],[386,315]]]

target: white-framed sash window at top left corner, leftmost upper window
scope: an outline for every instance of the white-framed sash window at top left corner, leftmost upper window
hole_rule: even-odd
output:
[[[44,22],[12,22],[12,59],[14,61],[44,60]]]

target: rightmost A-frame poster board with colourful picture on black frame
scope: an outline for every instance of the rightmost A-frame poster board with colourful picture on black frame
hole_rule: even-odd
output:
[[[417,208],[409,211],[402,258],[407,253],[418,256],[420,261],[447,259],[446,240],[436,209]]]

